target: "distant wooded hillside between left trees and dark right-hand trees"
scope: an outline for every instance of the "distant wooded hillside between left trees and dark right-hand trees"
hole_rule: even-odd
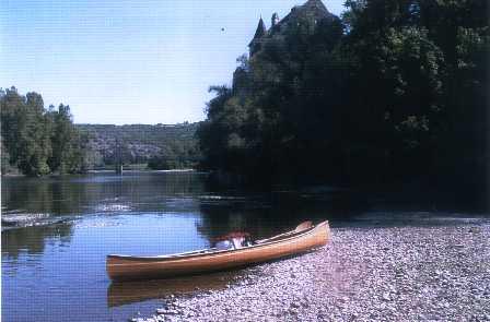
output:
[[[195,133],[199,123],[179,124],[77,124],[89,136],[94,167],[113,165],[121,156],[125,164],[155,159],[171,162],[171,168],[188,167],[200,155]]]

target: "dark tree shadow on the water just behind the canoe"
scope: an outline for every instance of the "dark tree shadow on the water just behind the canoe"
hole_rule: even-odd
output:
[[[197,230],[208,240],[230,231],[247,231],[265,238],[293,229],[299,223],[328,219],[330,226],[360,216],[369,208],[362,199],[345,193],[319,194],[295,191],[262,195],[201,200],[202,219]]]

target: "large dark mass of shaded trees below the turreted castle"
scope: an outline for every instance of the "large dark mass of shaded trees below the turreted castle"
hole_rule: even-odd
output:
[[[268,37],[233,88],[211,87],[202,165],[269,183],[483,184],[488,1],[346,8]]]

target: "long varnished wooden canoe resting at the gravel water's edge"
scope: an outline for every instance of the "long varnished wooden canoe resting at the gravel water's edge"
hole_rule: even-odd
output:
[[[327,243],[328,222],[305,222],[292,231],[232,250],[206,249],[163,257],[107,255],[107,274],[113,281],[164,278],[190,275],[277,260]]]

